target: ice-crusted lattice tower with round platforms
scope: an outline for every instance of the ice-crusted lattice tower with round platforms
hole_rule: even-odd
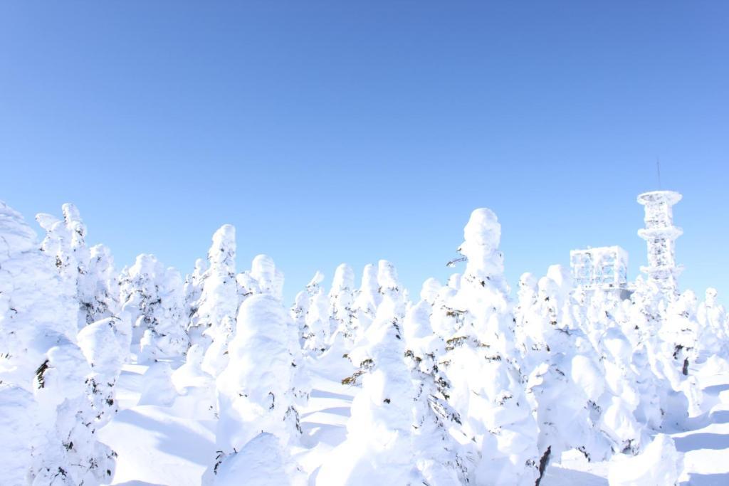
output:
[[[681,197],[674,191],[644,192],[638,196],[638,203],[645,206],[645,227],[638,230],[638,235],[648,243],[648,265],[641,270],[671,297],[678,293],[678,275],[683,270],[676,264],[676,238],[683,230],[674,226],[672,209]]]

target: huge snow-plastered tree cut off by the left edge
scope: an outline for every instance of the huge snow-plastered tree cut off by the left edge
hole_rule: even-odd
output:
[[[76,283],[50,251],[58,240],[47,236],[39,251],[22,216],[0,203],[0,468],[12,485],[98,484],[114,471],[114,453],[95,440],[93,373],[75,344]]]

